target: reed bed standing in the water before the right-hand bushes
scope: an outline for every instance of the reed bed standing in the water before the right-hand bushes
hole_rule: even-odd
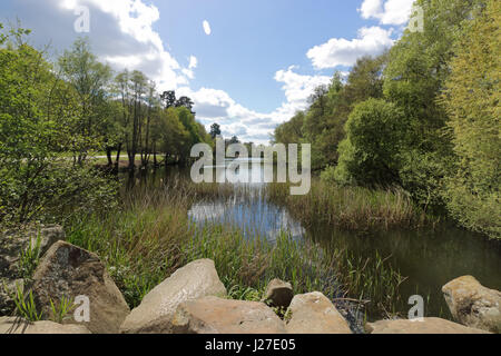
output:
[[[285,205],[306,226],[327,224],[347,230],[419,228],[431,222],[423,210],[400,189],[371,190],[312,180],[305,196],[292,196],[287,184],[271,184],[268,198]]]

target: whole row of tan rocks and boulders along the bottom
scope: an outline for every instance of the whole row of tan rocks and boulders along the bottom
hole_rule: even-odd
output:
[[[85,296],[88,320],[72,315],[53,323],[0,317],[0,334],[352,334],[348,323],[320,291],[294,295],[288,283],[275,279],[261,303],[232,300],[214,261],[200,259],[178,269],[130,310],[105,265],[92,253],[66,241],[61,228],[41,231],[40,260],[30,283],[21,278],[20,251],[29,238],[0,240],[0,316],[12,309],[12,291],[30,290],[43,316],[63,298]],[[471,276],[443,287],[454,319],[381,320],[369,334],[488,334],[501,330],[501,293]],[[283,318],[273,308],[286,310]]]

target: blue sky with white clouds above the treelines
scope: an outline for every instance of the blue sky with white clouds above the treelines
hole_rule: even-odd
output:
[[[267,144],[307,108],[314,88],[402,34],[413,0],[2,0],[56,58],[78,37],[115,70],[141,70],[157,89],[195,102],[225,137]],[[88,32],[81,16],[89,13]],[[49,46],[49,47],[48,47]]]

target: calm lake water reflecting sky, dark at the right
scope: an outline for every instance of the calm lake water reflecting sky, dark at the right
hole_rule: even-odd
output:
[[[226,165],[232,165],[232,161]],[[281,230],[288,230],[294,239],[313,239],[323,246],[334,245],[365,258],[374,257],[377,251],[383,258],[389,257],[392,267],[407,277],[400,288],[403,303],[412,295],[423,296],[426,316],[451,318],[441,288],[459,276],[472,275],[484,286],[501,290],[501,244],[498,241],[489,241],[453,226],[369,235],[337,231],[322,225],[306,229],[291,217],[286,208],[262,198],[261,190],[265,186],[263,166],[249,164],[248,167],[235,169],[235,175],[250,177],[252,182],[243,186],[255,194],[245,199],[233,197],[199,201],[189,211],[194,221],[199,225],[207,221],[237,225],[245,234],[259,234],[271,241]],[[171,167],[129,178],[128,185],[155,186],[173,176],[190,179],[189,170]],[[406,315],[410,307],[402,304],[399,312]]]

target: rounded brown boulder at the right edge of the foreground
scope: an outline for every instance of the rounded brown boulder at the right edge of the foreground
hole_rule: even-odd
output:
[[[501,333],[501,291],[482,286],[472,276],[463,276],[443,286],[442,293],[454,320]]]

